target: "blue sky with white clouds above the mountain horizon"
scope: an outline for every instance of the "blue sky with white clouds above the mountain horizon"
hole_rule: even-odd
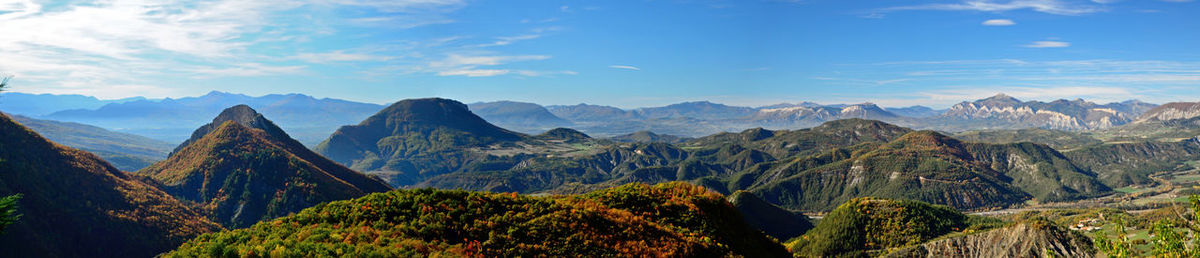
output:
[[[1200,101],[1195,0],[0,0],[11,91],[935,108]]]

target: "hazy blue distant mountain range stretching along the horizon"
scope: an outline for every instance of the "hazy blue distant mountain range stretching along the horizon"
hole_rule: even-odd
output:
[[[38,104],[41,103],[41,104]],[[343,125],[353,125],[384,106],[306,95],[252,97],[214,91],[198,97],[101,101],[78,95],[5,94],[0,108],[34,119],[95,125],[110,131],[134,133],[164,142],[181,142],[192,128],[233,104],[248,104],[276,118],[280,126],[301,143],[314,146]],[[1183,112],[1154,112],[1153,118],[1194,115],[1196,108],[1170,104]],[[870,119],[920,130],[962,132],[976,130],[1046,128],[1064,131],[1108,130],[1130,124],[1158,107],[1140,101],[1098,104],[1084,100],[1051,102],[1020,101],[1007,95],[967,101],[949,109],[922,106],[883,108],[872,103],[817,104],[780,103],[738,107],[707,101],[664,107],[622,109],[608,106],[540,106],[497,101],[468,104],[486,121],[516,132],[536,134],[557,127],[571,127],[594,137],[617,137],[640,131],[679,137],[703,137],[763,127],[796,130],[839,119]],[[1186,110],[1184,110],[1186,109]]]

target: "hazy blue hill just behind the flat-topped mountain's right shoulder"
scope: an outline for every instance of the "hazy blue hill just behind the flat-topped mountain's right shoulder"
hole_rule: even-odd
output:
[[[547,128],[570,126],[571,121],[554,116],[534,103],[497,101],[468,104],[472,113],[504,128],[536,133]]]

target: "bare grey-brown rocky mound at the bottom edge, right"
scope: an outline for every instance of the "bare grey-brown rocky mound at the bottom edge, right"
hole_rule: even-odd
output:
[[[1049,221],[1034,220],[925,242],[888,257],[1093,257],[1094,253],[1087,236]]]

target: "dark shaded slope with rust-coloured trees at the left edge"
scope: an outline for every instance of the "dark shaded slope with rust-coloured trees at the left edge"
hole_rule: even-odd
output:
[[[134,175],[4,114],[0,150],[0,196],[24,194],[24,216],[0,235],[2,256],[151,257],[221,229]]]

